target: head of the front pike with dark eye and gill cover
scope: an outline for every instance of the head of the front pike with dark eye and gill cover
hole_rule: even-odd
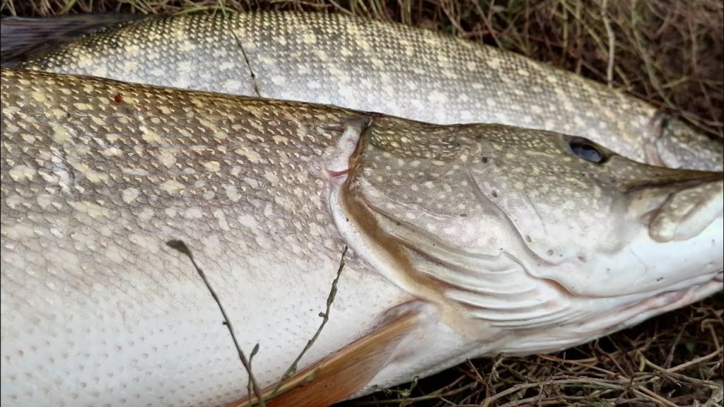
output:
[[[513,353],[565,348],[721,290],[722,173],[539,130],[391,120],[361,135],[332,188],[337,227],[387,278],[473,319],[591,325]]]

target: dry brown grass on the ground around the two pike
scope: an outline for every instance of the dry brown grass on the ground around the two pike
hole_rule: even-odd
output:
[[[724,133],[720,0],[3,0],[2,15],[325,9],[510,49]],[[722,406],[724,295],[552,356],[480,359],[345,406]],[[704,404],[705,403],[705,404]]]

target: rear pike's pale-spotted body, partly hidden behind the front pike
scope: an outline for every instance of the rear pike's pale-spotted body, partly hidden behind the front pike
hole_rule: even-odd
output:
[[[531,127],[589,138],[647,164],[724,167],[721,138],[662,119],[639,98],[508,51],[342,14],[224,18],[151,17],[88,35],[23,66],[443,125]]]

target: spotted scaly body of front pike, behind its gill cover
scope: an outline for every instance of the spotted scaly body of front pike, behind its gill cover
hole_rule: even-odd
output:
[[[3,404],[222,406],[319,326],[344,241],[324,161],[359,114],[2,72]],[[120,96],[120,97],[118,97]],[[358,301],[364,298],[361,303]],[[300,368],[408,295],[350,251],[332,317]]]

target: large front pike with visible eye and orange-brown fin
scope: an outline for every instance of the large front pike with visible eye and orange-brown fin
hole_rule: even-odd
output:
[[[4,405],[243,406],[232,330],[267,405],[327,406],[722,288],[721,172],[505,125],[29,70],[0,87]]]

